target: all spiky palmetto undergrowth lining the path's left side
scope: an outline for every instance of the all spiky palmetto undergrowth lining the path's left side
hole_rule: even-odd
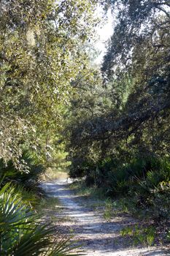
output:
[[[20,161],[23,173],[0,159],[0,255],[77,255],[71,238],[55,228],[58,199],[39,186],[45,167],[28,152]]]

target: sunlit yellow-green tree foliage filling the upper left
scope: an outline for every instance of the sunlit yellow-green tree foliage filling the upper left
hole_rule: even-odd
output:
[[[2,1],[0,4],[0,154],[23,170],[23,148],[45,154],[84,69],[82,44],[93,37],[96,1]]]

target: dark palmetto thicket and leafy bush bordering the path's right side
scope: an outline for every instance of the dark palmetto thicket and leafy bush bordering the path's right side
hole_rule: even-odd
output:
[[[122,163],[107,158],[84,166],[88,187],[101,187],[109,197],[130,196],[136,208],[147,208],[155,221],[168,219],[170,205],[170,160],[156,157],[134,158]]]

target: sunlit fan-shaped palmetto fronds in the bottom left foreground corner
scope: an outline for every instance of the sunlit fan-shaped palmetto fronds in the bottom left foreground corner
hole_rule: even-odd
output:
[[[0,201],[1,255],[70,255],[72,243],[55,241],[53,227],[43,224],[10,184],[1,188]]]

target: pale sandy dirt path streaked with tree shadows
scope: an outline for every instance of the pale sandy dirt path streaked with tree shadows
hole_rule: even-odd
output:
[[[75,240],[82,244],[89,256],[167,256],[168,252],[158,247],[131,248],[129,241],[120,236],[120,230],[135,220],[127,216],[117,216],[107,222],[101,214],[93,211],[80,198],[73,194],[65,180],[43,184],[43,188],[51,197],[58,197],[63,206],[61,217],[63,222],[58,226],[62,233],[73,234]]]

